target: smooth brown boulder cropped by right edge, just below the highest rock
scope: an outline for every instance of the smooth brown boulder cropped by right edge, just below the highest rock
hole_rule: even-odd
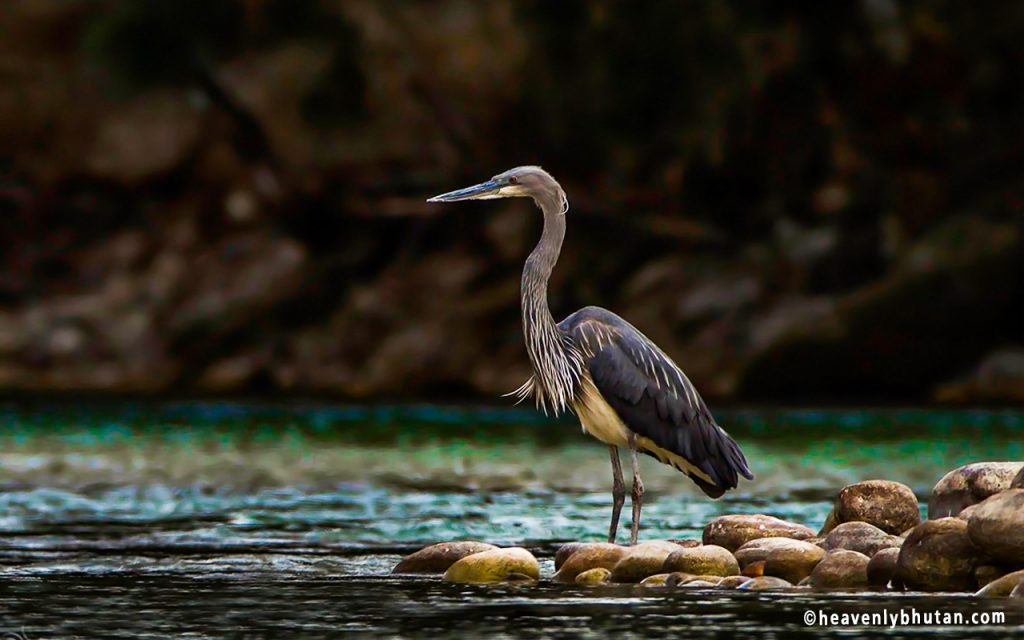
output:
[[[974,509],[967,535],[985,554],[1010,566],[1024,566],[1024,488],[996,494]]]

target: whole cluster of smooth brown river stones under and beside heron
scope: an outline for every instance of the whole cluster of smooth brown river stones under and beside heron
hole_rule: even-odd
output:
[[[1024,597],[1024,463],[966,465],[935,485],[924,521],[919,504],[904,484],[867,480],[839,492],[817,531],[770,515],[724,515],[707,523],[701,540],[563,545],[551,575],[542,575],[526,549],[459,541],[409,555],[393,572],[469,584],[543,579],[581,586]]]

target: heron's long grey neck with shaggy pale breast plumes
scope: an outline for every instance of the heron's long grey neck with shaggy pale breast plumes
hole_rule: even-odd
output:
[[[548,280],[565,238],[567,203],[560,187],[536,200],[544,211],[544,232],[526,258],[521,289],[522,328],[534,377],[515,393],[520,398],[532,396],[545,413],[550,407],[557,415],[568,409],[583,374],[582,356],[559,331],[548,307]]]

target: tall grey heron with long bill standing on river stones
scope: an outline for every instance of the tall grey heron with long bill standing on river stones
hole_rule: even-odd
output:
[[[520,286],[532,375],[509,395],[532,398],[538,409],[556,416],[574,413],[584,432],[608,445],[608,542],[615,542],[626,501],[620,449],[629,450],[633,471],[631,545],[637,544],[643,508],[638,453],[675,467],[713,499],[735,488],[740,475],[753,480],[739,445],[715,422],[686,374],[647,336],[598,306],[555,323],[548,306],[548,281],[565,239],[569,204],[551,174],[536,166],[516,167],[427,202],[497,198],[531,198],[544,214],[544,230],[526,258]]]

